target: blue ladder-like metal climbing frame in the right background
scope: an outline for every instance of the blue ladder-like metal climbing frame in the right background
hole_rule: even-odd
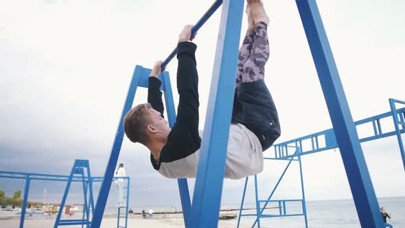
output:
[[[372,117],[368,117],[365,119],[358,120],[354,122],[356,126],[372,126],[373,129],[373,135],[367,135],[364,137],[360,137],[359,141],[360,142],[365,142],[365,141],[372,141],[376,139],[382,139],[384,137],[391,137],[396,135],[397,136],[397,141],[399,144],[400,152],[402,155],[402,162],[405,163],[405,159],[403,156],[403,151],[404,151],[404,144],[402,143],[402,137],[401,134],[405,133],[405,108],[400,108],[396,109],[394,103],[399,103],[399,104],[405,104],[404,101],[402,100],[395,100],[395,99],[389,99],[389,103],[391,106],[391,111],[382,113],[380,115],[375,115]],[[392,127],[392,130],[386,130],[384,132],[382,130],[382,121],[383,119],[391,118],[393,119],[393,124],[394,126]],[[402,128],[400,129],[400,126]],[[388,129],[388,128],[386,128]],[[305,144],[310,145],[309,148],[305,148]],[[334,148],[337,148],[338,144],[336,142],[336,135],[334,133],[334,129],[330,128],[327,130],[323,130],[318,133],[313,133],[310,135],[305,135],[303,137],[299,137],[297,139],[291,139],[288,141],[281,142],[279,144],[276,144],[273,146],[275,148],[274,155],[271,157],[265,157],[264,159],[267,160],[284,160],[288,161],[286,168],[283,170],[281,173],[281,176],[277,183],[275,184],[275,187],[273,190],[270,192],[270,195],[266,200],[259,200],[257,196],[257,176],[255,176],[255,196],[257,198],[256,204],[257,204],[257,213],[256,214],[242,214],[242,209],[244,205],[244,197],[246,194],[246,188],[247,188],[247,183],[248,183],[248,177],[246,177],[246,181],[244,184],[244,190],[242,194],[242,203],[240,206],[240,213],[238,216],[238,227],[240,225],[240,220],[242,216],[256,216],[256,220],[253,223],[252,227],[255,227],[257,223],[257,227],[260,227],[260,218],[272,218],[272,217],[285,217],[285,216],[304,216],[305,220],[305,227],[308,227],[308,220],[307,220],[307,212],[306,212],[306,205],[305,205],[305,193],[304,193],[304,187],[303,187],[303,172],[302,172],[302,166],[301,166],[301,156],[303,155],[310,155],[315,152],[322,152],[325,150],[332,150]],[[302,192],[302,199],[296,199],[296,200],[270,200],[275,193],[275,190],[277,190],[277,187],[279,183],[281,182],[281,179],[283,179],[284,174],[286,174],[286,171],[288,170],[290,164],[292,161],[299,161],[299,172],[300,172],[300,177],[301,177],[301,192]],[[303,207],[303,213],[302,214],[286,214],[286,204],[285,202],[288,201],[300,201],[302,203]],[[266,206],[270,202],[278,202],[279,203],[279,214],[263,214],[264,209],[266,209]],[[262,207],[260,203],[265,203],[264,206]],[[281,211],[281,209],[283,209]]]

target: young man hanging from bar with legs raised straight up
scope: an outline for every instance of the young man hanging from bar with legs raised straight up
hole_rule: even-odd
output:
[[[263,151],[280,136],[280,124],[273,99],[264,83],[264,65],[268,60],[268,16],[260,0],[248,0],[248,31],[240,47],[235,97],[227,151],[225,178],[240,179],[263,170]],[[171,129],[163,119],[160,91],[161,61],[150,74],[148,103],[139,104],[125,117],[124,129],[132,142],[151,152],[155,170],[168,178],[196,177],[201,136],[198,131],[197,46],[188,42],[192,25],[186,25],[178,37],[177,90],[179,94],[176,124]],[[226,143],[226,142],[224,142]]]

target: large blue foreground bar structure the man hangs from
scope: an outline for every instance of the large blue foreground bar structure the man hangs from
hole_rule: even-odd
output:
[[[343,86],[340,82],[332,50],[327,41],[325,28],[323,27],[316,1],[296,0],[296,2],[332,120],[336,142],[341,151],[360,223],[362,227],[382,227],[383,223],[377,198],[364,155],[362,155],[360,141],[351,117]],[[193,36],[221,3],[222,1],[215,1],[210,10],[198,21],[197,25],[193,28]],[[220,30],[216,56],[214,58],[205,131],[203,141],[201,142],[200,161],[198,163],[192,207],[189,203],[187,180],[178,179],[186,227],[203,228],[218,226],[243,9],[244,0],[224,0],[222,3]],[[176,49],[165,60],[162,69],[166,67],[167,63],[175,55]],[[150,69],[137,66],[132,76],[111,150],[111,156],[104,173],[104,181],[102,182],[97,204],[95,205],[91,227],[100,227],[113,179],[113,172],[124,138],[124,116],[132,108],[137,87],[148,87],[147,73],[150,73]],[[170,126],[172,126],[176,115],[170,78],[165,71],[159,76],[159,79],[162,80],[161,89],[165,91],[166,106],[169,104],[167,116],[169,117]],[[403,123],[404,120],[401,119],[399,124]]]

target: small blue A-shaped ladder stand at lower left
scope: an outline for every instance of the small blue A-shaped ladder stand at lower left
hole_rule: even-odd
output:
[[[86,171],[84,170],[86,169]],[[86,176],[87,175],[87,176]],[[63,208],[65,207],[66,199],[69,194],[69,189],[73,179],[79,178],[83,185],[83,194],[84,194],[84,207],[83,207],[83,216],[82,219],[66,219],[62,220],[60,217],[62,216]],[[87,198],[87,190],[89,190],[89,199]],[[62,202],[60,203],[58,216],[56,216],[55,225],[54,227],[58,227],[60,225],[86,225],[86,227],[90,227],[90,211],[93,212],[94,203],[93,203],[93,181],[91,179],[90,174],[90,165],[89,160],[80,160],[76,159],[73,163],[73,167],[71,169],[69,179],[67,179],[67,185],[65,188],[65,193],[62,197]]]

